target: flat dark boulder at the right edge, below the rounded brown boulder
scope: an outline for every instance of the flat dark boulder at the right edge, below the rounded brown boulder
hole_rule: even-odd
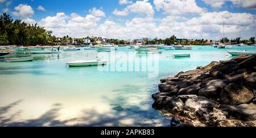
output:
[[[242,104],[238,106],[233,105],[220,105],[218,109],[228,112],[232,117],[241,120],[256,120],[256,105],[254,103]]]

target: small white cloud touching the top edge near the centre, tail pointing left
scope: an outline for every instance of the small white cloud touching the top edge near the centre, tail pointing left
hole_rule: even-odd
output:
[[[143,1],[137,1],[132,5],[128,5],[125,9],[121,11],[118,11],[117,9],[115,9],[112,13],[119,16],[126,16],[126,15],[129,15],[129,13],[152,16],[154,15],[155,11],[151,3],[148,2],[148,0],[143,0]]]

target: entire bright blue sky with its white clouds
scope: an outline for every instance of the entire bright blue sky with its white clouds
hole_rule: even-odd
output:
[[[121,1],[125,4],[121,4]],[[230,38],[235,38],[238,32],[244,38],[254,36],[256,32],[256,0],[131,1],[0,0],[0,8],[16,19],[38,23],[52,30],[56,36],[97,36],[109,32],[111,37],[121,38],[176,35],[213,39],[222,37],[221,24],[225,19],[228,24],[226,36]],[[217,5],[217,2],[222,4]],[[44,10],[38,10],[39,6]],[[114,10],[117,10],[117,14]],[[57,13],[64,15],[60,17]],[[227,17],[221,19],[223,15]],[[210,23],[205,23],[207,20]]]

